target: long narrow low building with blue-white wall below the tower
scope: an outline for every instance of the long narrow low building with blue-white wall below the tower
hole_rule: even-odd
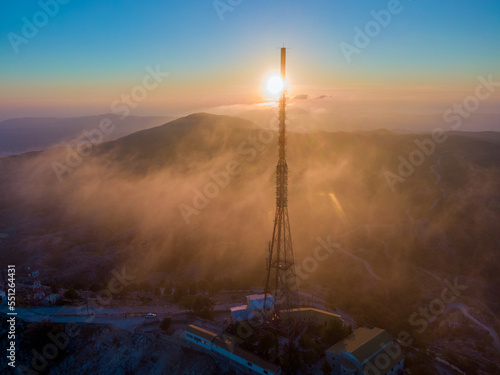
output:
[[[185,338],[207,350],[231,359],[257,374],[281,374],[281,368],[278,365],[265,361],[257,355],[239,348],[234,344],[235,340],[230,335],[224,335],[223,338],[206,329],[190,325],[185,331]]]

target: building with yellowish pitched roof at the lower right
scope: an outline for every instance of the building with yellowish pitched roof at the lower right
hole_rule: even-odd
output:
[[[332,374],[399,375],[404,356],[391,335],[380,328],[358,328],[326,351]]]

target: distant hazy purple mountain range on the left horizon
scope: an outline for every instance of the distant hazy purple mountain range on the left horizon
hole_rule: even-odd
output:
[[[171,117],[127,116],[123,119],[114,114],[73,118],[25,117],[0,122],[0,157],[28,151],[40,151],[71,144],[82,136],[83,131],[99,128],[109,120],[114,129],[106,134],[105,141],[112,141],[139,130],[162,125]]]

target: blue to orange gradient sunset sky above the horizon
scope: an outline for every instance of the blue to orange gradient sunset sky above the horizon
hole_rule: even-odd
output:
[[[250,108],[283,44],[290,95],[314,108],[439,113],[478,76],[500,81],[498,0],[55,1],[1,5],[0,120],[111,112],[148,67],[169,75],[135,89],[131,114]],[[481,105],[495,108],[498,92]]]

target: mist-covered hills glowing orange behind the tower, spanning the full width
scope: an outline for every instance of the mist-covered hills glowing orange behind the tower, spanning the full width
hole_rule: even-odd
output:
[[[0,159],[2,261],[38,262],[43,280],[68,284],[126,265],[143,280],[263,286],[277,161],[267,122],[200,113],[85,149]],[[465,290],[447,309],[500,331],[498,133],[290,132],[287,142],[300,288],[328,286],[332,306],[397,335],[455,281]],[[498,336],[466,326],[489,344],[470,350],[498,359]],[[415,333],[415,345],[435,345],[439,332]]]

